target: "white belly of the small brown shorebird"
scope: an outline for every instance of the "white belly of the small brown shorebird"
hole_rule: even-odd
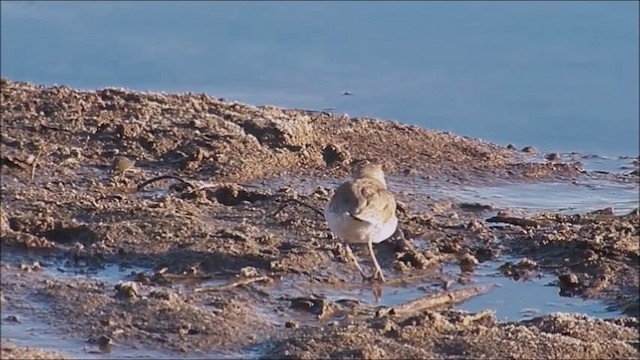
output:
[[[386,223],[370,223],[353,219],[348,213],[334,213],[324,208],[324,218],[329,229],[342,241],[352,244],[376,244],[393,235],[398,227],[398,218],[393,216]]]

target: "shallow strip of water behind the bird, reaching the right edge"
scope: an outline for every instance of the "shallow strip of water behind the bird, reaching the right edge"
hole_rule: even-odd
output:
[[[611,162],[602,161],[604,166]],[[347,179],[323,179],[295,183],[301,193],[318,187],[336,188]],[[427,210],[422,200],[479,203],[495,209],[517,209],[525,213],[559,212],[586,213],[612,207],[617,215],[627,214],[640,206],[638,183],[623,183],[584,177],[570,182],[503,182],[491,185],[465,185],[432,181],[422,177],[387,176],[389,189],[415,210]],[[276,190],[290,185],[280,179],[259,182],[261,186]],[[495,213],[495,211],[492,210]]]

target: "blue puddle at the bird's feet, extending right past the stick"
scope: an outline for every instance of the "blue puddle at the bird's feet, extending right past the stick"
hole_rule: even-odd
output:
[[[511,259],[511,261],[514,261]],[[517,261],[515,261],[517,262]],[[495,311],[501,321],[519,321],[555,312],[577,313],[596,318],[623,317],[621,311],[611,310],[601,301],[585,300],[579,297],[560,296],[560,288],[553,285],[557,277],[547,273],[535,273],[527,280],[513,280],[502,275],[499,267],[504,261],[486,261],[476,268],[471,281],[465,285],[454,282],[449,289],[457,290],[470,286],[489,285],[487,293],[473,297],[454,306],[454,309],[479,312],[486,309]],[[460,276],[457,264],[444,266],[446,279],[455,280]],[[341,285],[308,285],[304,286],[285,282],[271,291],[274,296],[288,297],[326,297],[333,302],[341,300],[357,300],[371,306],[397,306],[411,300],[436,294],[442,291],[442,281],[435,271],[433,276],[425,276],[410,285],[382,286],[379,301],[374,296],[371,284],[362,284],[354,280]],[[389,280],[393,280],[389,276]]]

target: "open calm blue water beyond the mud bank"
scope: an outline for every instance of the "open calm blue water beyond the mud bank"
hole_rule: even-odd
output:
[[[3,77],[638,155],[638,2],[2,2]],[[342,96],[342,92],[354,96]]]

